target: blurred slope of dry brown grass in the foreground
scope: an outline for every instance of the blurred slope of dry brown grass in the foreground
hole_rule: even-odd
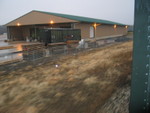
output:
[[[0,76],[0,113],[106,113],[130,83],[131,56],[126,42],[13,70]]]

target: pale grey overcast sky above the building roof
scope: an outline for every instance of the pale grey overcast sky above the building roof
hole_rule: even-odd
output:
[[[132,25],[134,0],[0,0],[0,25],[32,10],[85,16]]]

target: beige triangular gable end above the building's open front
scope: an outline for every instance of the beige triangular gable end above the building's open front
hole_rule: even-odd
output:
[[[8,24],[6,26],[17,26],[17,23],[20,25],[35,25],[35,24],[49,24],[50,21],[54,23],[72,23],[77,22],[75,20],[62,18],[54,15],[49,15],[45,13],[40,13],[36,11],[32,11]]]

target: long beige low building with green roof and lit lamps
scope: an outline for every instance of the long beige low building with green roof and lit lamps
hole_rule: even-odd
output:
[[[112,21],[43,11],[31,11],[6,26],[8,39],[15,41],[27,38],[38,40],[41,28],[80,29],[82,39],[125,35],[128,30],[126,25]]]

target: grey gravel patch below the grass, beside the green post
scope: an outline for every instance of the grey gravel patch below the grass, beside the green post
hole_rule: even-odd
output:
[[[129,113],[130,86],[119,88],[97,113]]]

